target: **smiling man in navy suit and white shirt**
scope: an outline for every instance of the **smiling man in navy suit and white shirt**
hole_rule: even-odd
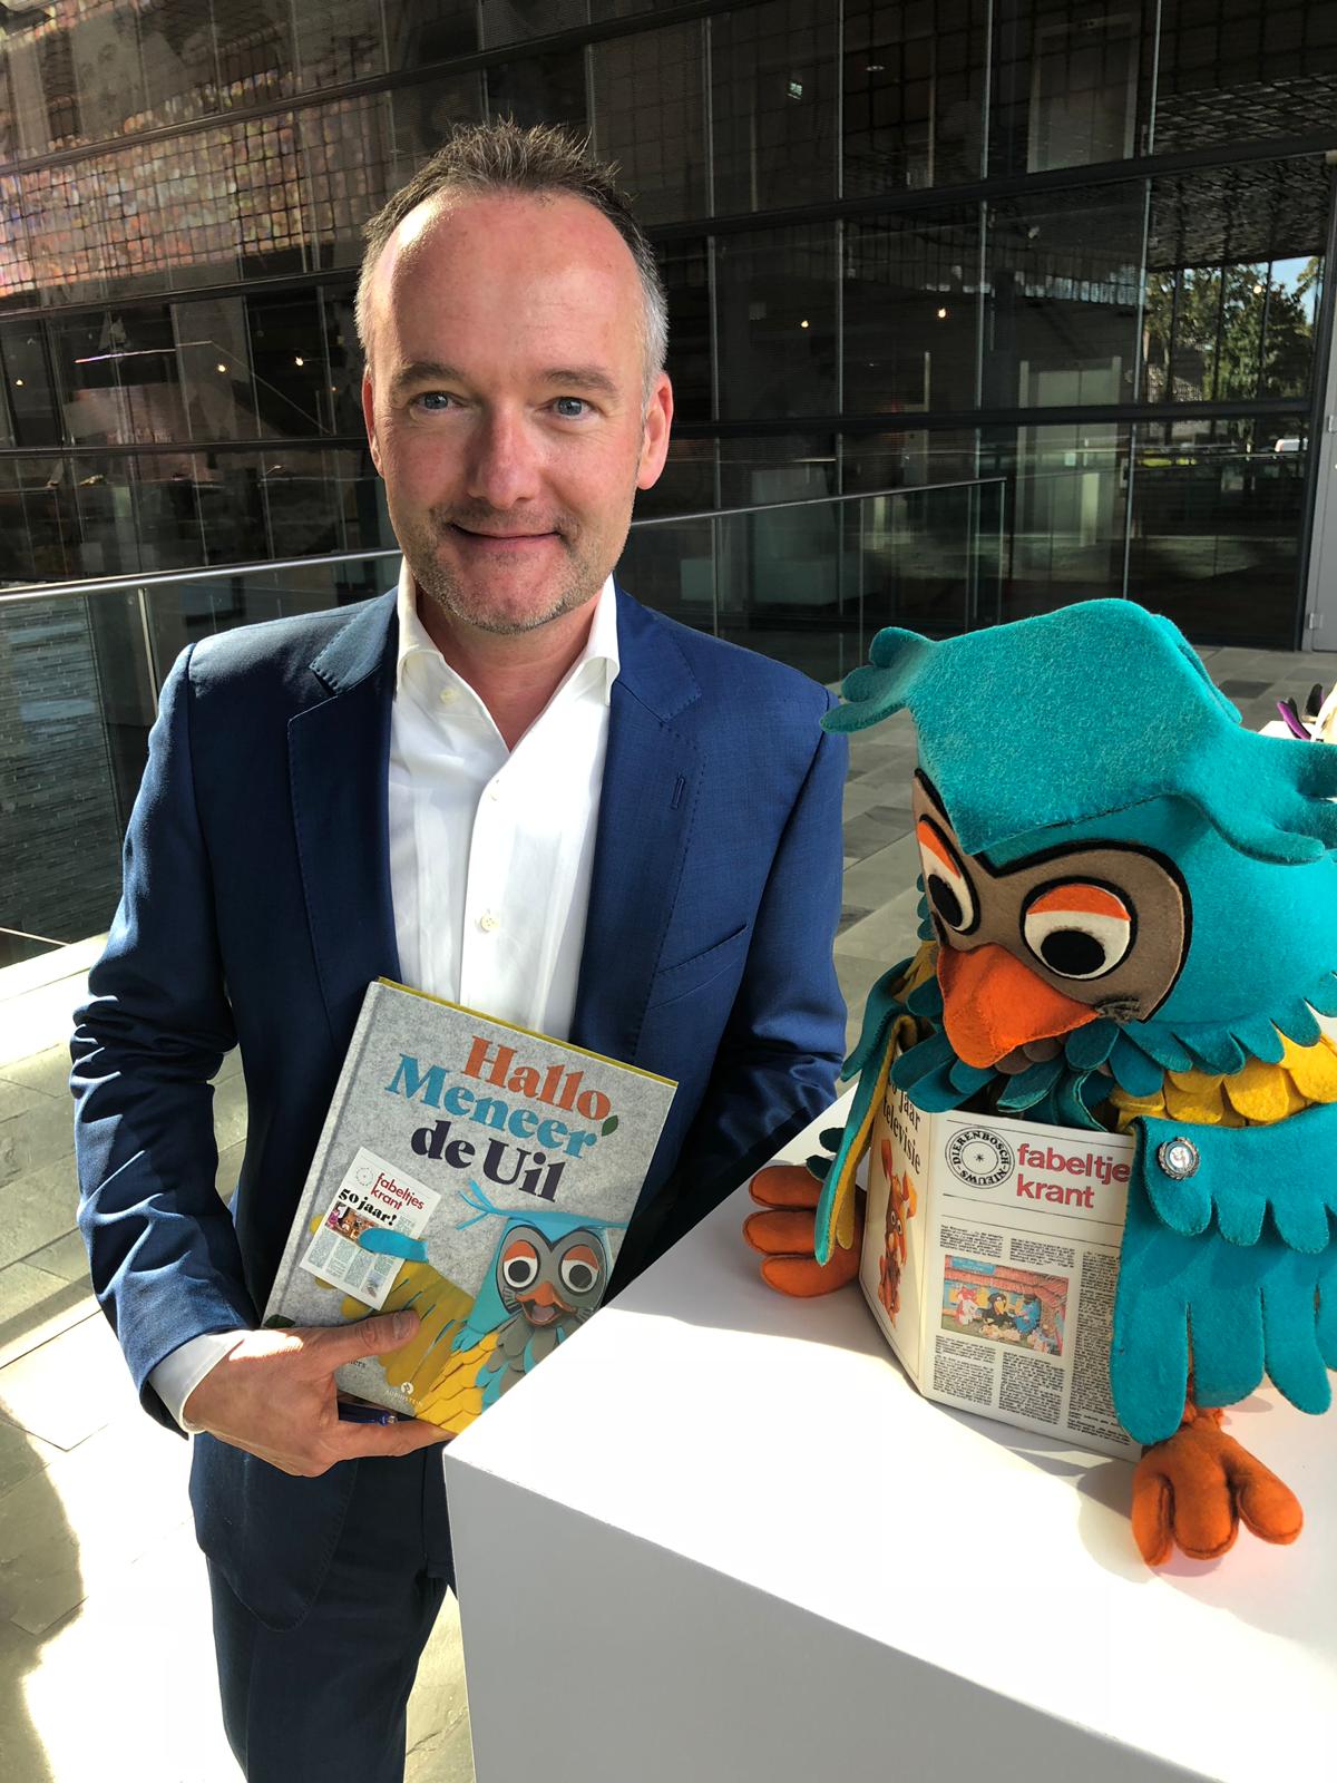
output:
[[[611,583],[672,392],[606,169],[458,136],[369,225],[358,319],[399,588],[176,663],[73,1043],[93,1280],[146,1409],[203,1432],[251,1783],[401,1776],[451,1580],[440,1432],[344,1421],[332,1380],[414,1314],[255,1328],[367,981],[679,1082],[615,1287],[825,1105],[841,1047],[825,694]],[[230,1218],[209,1079],[237,1041]]]

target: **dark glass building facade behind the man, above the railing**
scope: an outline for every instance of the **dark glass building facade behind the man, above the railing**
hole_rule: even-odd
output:
[[[1004,613],[1296,642],[1330,0],[11,7],[0,581],[387,546],[362,225],[499,114],[588,132],[656,241],[642,514],[997,472]]]

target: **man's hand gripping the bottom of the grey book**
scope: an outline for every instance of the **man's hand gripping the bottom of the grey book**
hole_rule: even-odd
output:
[[[415,1332],[415,1312],[250,1332],[205,1375],[182,1412],[219,1441],[308,1478],[357,1455],[408,1455],[447,1442],[446,1430],[415,1417],[392,1425],[339,1417],[335,1369],[360,1355],[387,1355]]]

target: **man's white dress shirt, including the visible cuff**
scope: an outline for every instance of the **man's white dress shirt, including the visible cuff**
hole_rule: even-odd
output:
[[[506,749],[417,617],[399,569],[390,713],[390,893],[399,977],[483,1015],[570,1036],[590,908],[608,710],[619,672],[611,578],[585,649]],[[246,1332],[193,1337],[150,1373],[176,1423]]]

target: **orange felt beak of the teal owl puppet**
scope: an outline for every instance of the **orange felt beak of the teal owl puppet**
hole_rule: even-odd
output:
[[[1032,1039],[1057,1039],[1096,1020],[1029,972],[1005,947],[988,941],[972,952],[938,949],[943,1027],[957,1059],[984,1068]]]

